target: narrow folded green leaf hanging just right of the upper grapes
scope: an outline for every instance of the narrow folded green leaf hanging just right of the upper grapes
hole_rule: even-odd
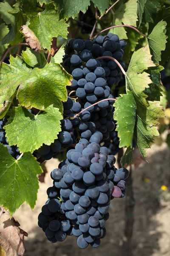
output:
[[[127,94],[122,94],[114,103],[114,119],[116,131],[120,140],[119,147],[131,147],[133,132],[136,120],[136,103],[133,93],[127,90]]]

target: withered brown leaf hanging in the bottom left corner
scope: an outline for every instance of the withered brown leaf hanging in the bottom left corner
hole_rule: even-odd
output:
[[[20,223],[15,218],[10,218],[9,212],[3,212],[0,218],[0,236],[8,241],[18,256],[23,256],[25,252],[24,236],[28,236],[28,233],[20,229],[19,226]]]

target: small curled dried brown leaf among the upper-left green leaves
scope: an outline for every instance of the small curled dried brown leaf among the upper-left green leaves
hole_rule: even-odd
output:
[[[42,50],[40,41],[34,34],[34,32],[28,28],[28,26],[21,26],[20,32],[25,36],[27,44],[33,49],[35,52],[40,52]]]

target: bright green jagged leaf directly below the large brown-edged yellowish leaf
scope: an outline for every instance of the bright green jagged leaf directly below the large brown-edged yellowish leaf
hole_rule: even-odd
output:
[[[51,145],[61,131],[62,114],[52,105],[36,116],[19,105],[10,109],[8,115],[10,118],[4,126],[6,137],[9,145],[17,145],[20,152],[33,153],[43,143]]]

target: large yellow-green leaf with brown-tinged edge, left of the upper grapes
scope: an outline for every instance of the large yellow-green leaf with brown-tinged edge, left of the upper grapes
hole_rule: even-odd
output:
[[[18,89],[20,105],[40,110],[54,105],[62,112],[62,101],[67,100],[66,86],[71,84],[69,75],[59,64],[46,64],[43,68],[35,67]],[[38,94],[38,98],[37,98]]]

